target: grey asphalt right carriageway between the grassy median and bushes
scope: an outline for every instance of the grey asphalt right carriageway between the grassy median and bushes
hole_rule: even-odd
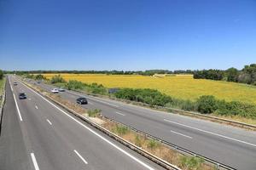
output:
[[[48,84],[34,83],[47,91],[54,88]],[[117,122],[135,127],[230,167],[242,170],[256,169],[256,133],[253,131],[189,116],[154,111],[74,91],[67,90],[59,95],[73,102],[79,96],[84,96],[89,101],[88,105],[83,105],[84,108],[101,109],[102,115]]]

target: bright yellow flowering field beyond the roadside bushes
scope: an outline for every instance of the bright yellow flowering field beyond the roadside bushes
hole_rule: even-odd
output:
[[[44,74],[51,78],[55,74]],[[137,75],[61,74],[65,80],[100,83],[108,88],[153,88],[179,99],[195,100],[201,95],[256,104],[256,87],[236,82],[193,79],[192,76],[146,77]]]

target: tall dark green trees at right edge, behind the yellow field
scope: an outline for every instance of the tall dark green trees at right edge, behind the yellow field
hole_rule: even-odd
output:
[[[245,65],[241,71],[234,67],[224,71],[212,69],[195,71],[194,78],[224,80],[228,82],[241,82],[256,85],[256,64]]]

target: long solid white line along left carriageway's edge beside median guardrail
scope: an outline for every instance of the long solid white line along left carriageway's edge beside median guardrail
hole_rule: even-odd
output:
[[[26,86],[26,84],[24,84],[23,82],[21,82],[24,86]],[[26,86],[26,88],[28,88]],[[70,116],[69,114],[67,114],[65,111],[61,110],[58,106],[54,105],[53,103],[51,103],[48,99],[45,99],[41,94],[38,94],[36,91],[34,91],[32,88],[28,88],[30,89],[33,93],[37,94],[39,97],[41,97],[42,99],[44,99],[46,102],[49,103],[49,105],[52,105],[53,107],[55,107],[55,109],[57,109],[58,111],[61,111],[63,114],[65,114],[66,116],[68,116],[70,119],[72,119],[74,122],[79,123],[79,125],[81,125],[82,127],[86,128],[87,130],[90,131],[90,133],[95,134],[97,137],[99,137],[100,139],[104,140],[105,142],[107,142],[108,144],[112,145],[115,149],[119,150],[120,152],[122,152],[123,154],[125,154],[126,156],[129,156],[132,160],[137,161],[139,164],[141,164],[143,167],[148,168],[149,170],[154,170],[153,167],[148,166],[148,164],[144,163],[143,161],[137,159],[137,157],[132,156],[130,153],[128,153],[127,151],[121,149],[118,145],[113,144],[110,140],[104,138],[101,134],[96,133],[94,130],[92,130],[90,127],[85,126],[82,122],[79,122],[77,119],[75,119],[73,116]]]

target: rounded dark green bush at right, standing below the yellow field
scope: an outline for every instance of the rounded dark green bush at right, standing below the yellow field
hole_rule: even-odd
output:
[[[207,114],[213,113],[218,109],[217,99],[212,95],[203,95],[199,99],[197,99],[197,111]]]

